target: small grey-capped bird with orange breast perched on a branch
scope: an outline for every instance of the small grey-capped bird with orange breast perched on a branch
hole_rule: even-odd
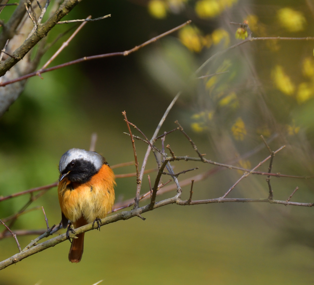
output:
[[[71,148],[59,163],[58,198],[61,208],[62,226],[69,232],[97,222],[111,212],[115,200],[115,175],[106,159],[94,151]],[[69,223],[70,221],[70,223]],[[69,251],[70,262],[80,262],[84,249],[84,233],[73,238]]]

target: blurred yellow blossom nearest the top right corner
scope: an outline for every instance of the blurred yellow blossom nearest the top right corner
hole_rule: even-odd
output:
[[[289,32],[299,32],[304,30],[306,19],[303,13],[291,8],[282,8],[277,12],[280,25]]]

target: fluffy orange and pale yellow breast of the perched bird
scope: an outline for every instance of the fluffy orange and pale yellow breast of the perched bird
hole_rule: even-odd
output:
[[[58,185],[58,197],[63,214],[71,222],[84,217],[91,223],[111,212],[115,200],[115,176],[104,164],[99,172],[84,184],[73,183],[64,178]]]

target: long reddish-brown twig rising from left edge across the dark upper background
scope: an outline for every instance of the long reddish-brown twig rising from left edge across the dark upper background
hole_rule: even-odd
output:
[[[56,70],[56,69],[59,69],[59,68],[62,68],[62,67],[66,67],[66,66],[69,66],[69,65],[73,65],[73,64],[80,63],[80,62],[84,62],[84,61],[87,61],[87,60],[96,60],[96,59],[101,59],[101,58],[106,58],[106,57],[111,57],[111,56],[127,56],[127,55],[137,51],[138,49],[141,49],[144,46],[146,46],[148,44],[151,44],[151,43],[159,40],[160,38],[165,37],[166,35],[171,34],[171,33],[175,32],[175,31],[183,28],[184,26],[188,25],[189,23],[191,23],[191,21],[187,21],[186,23],[184,23],[184,24],[182,24],[182,25],[180,25],[180,26],[178,26],[176,28],[173,28],[173,29],[171,29],[171,30],[169,30],[169,31],[167,31],[167,32],[165,32],[163,34],[160,34],[159,36],[154,37],[154,38],[146,41],[143,44],[135,46],[133,49],[129,49],[129,50],[126,50],[126,51],[123,51],[123,52],[115,52],[115,53],[109,53],[109,54],[99,54],[99,55],[92,55],[92,56],[84,56],[84,57],[82,57],[80,59],[77,59],[77,60],[72,60],[72,61],[63,63],[61,65],[56,65],[56,66],[53,66],[53,67],[50,67],[50,68],[43,69],[43,70],[41,70],[41,74],[45,73],[45,72],[48,72],[48,71]],[[8,84],[12,84],[14,82],[18,82],[18,81],[21,81],[21,80],[33,77],[33,76],[37,75],[37,72],[38,71],[35,71],[35,72],[32,72],[32,73],[26,74],[24,76],[21,76],[19,78],[5,81],[3,83],[0,83],[0,86],[6,86]]]

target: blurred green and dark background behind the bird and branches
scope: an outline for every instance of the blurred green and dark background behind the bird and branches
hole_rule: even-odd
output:
[[[43,74],[44,80],[29,79],[0,120],[0,195],[56,181],[61,155],[69,148],[88,149],[93,132],[98,134],[96,151],[110,165],[132,161],[121,112],[127,111],[128,120],[151,137],[180,90],[183,93],[161,132],[175,128],[174,121],[179,120],[201,153],[219,162],[259,146],[261,134],[275,136],[271,148],[286,148],[276,155],[273,172],[313,175],[313,42],[247,43],[212,61],[198,76],[228,73],[202,80],[193,75],[210,55],[240,41],[235,37],[238,26],[230,21],[247,19],[252,36],[312,36],[312,2],[83,1],[65,19],[109,13],[111,17],[85,25],[53,65],[130,49],[188,19],[193,23],[127,57],[72,65]],[[13,9],[6,7],[1,17],[9,17]],[[66,28],[58,25],[50,41]],[[64,39],[47,52],[41,65]],[[165,143],[176,155],[196,156],[181,133],[168,135]],[[141,164],[146,144],[136,141],[136,148]],[[253,168],[266,156],[264,148],[237,165]],[[155,164],[151,156],[147,169]],[[180,179],[212,168],[194,162],[173,164],[177,172],[199,166]],[[268,165],[260,168],[267,169]],[[134,171],[133,166],[115,169],[116,174]],[[241,175],[220,171],[195,183],[193,199],[219,197]],[[246,178],[230,197],[266,198],[265,178]],[[271,182],[275,199],[286,200],[299,186],[292,200],[313,201],[311,179],[272,178]],[[116,200],[132,198],[135,189],[135,178],[117,179]],[[189,186],[183,187],[182,199],[188,196]],[[0,217],[16,213],[28,199],[25,195],[1,202]],[[44,206],[50,225],[59,223],[56,188],[30,208],[34,206]],[[145,221],[133,218],[88,232],[78,264],[68,262],[70,243],[63,242],[5,268],[0,284],[93,284],[101,279],[106,284],[313,284],[312,211],[266,203],[168,205],[144,214]],[[20,216],[12,229],[45,226],[43,213],[36,210]],[[35,237],[19,237],[19,242],[24,247]],[[13,238],[0,241],[1,260],[16,252]]]

